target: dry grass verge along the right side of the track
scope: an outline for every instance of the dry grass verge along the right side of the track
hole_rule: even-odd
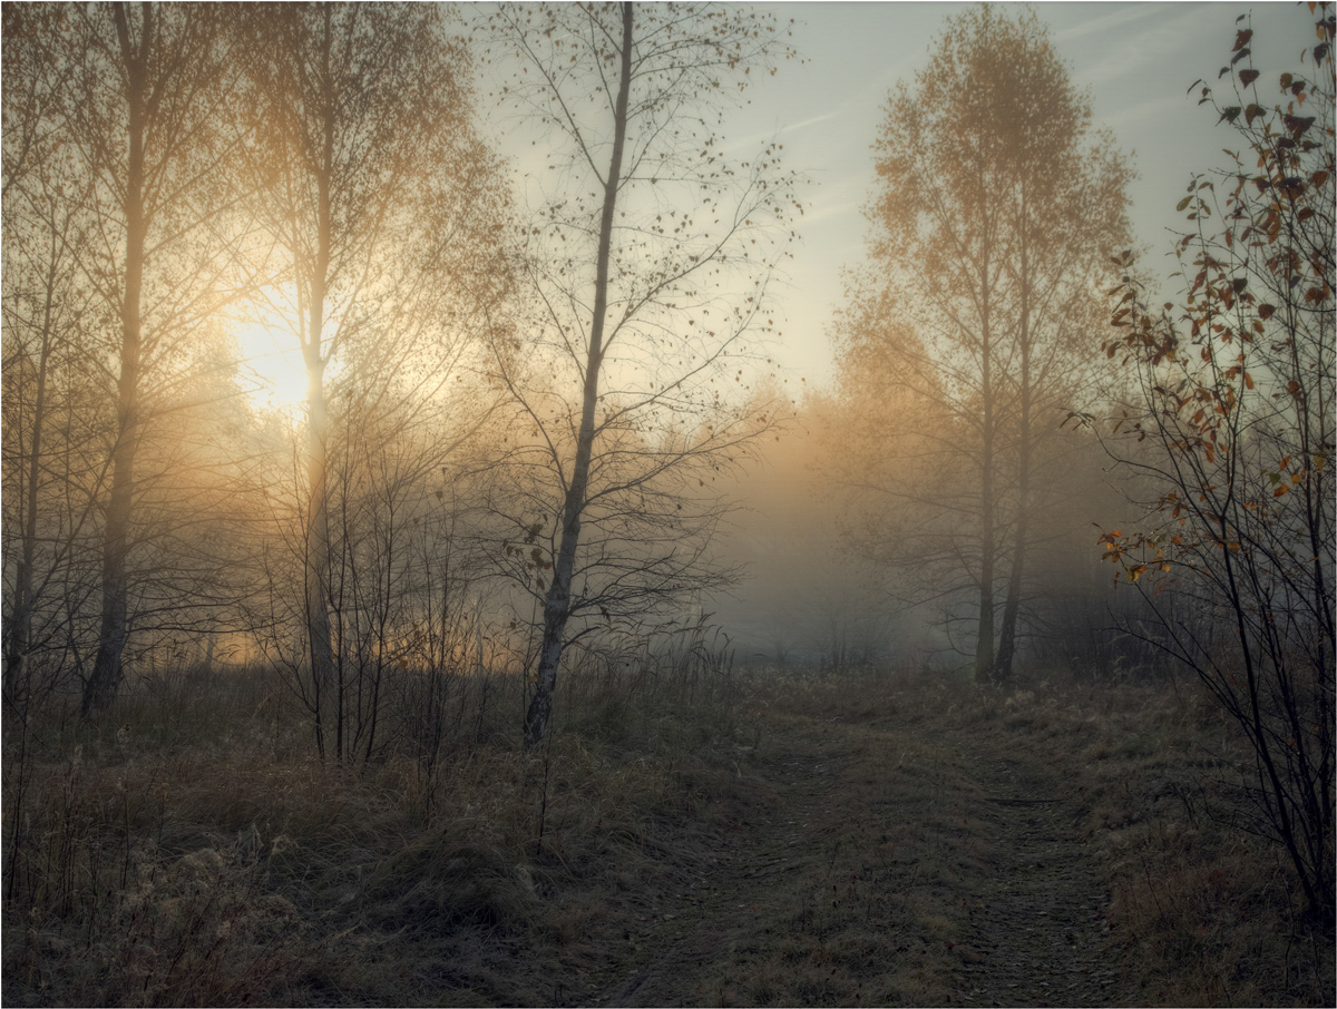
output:
[[[1055,675],[995,690],[961,678],[804,672],[774,683],[783,684],[778,695],[770,683],[759,688],[767,711],[872,726],[886,732],[892,751],[923,754],[928,740],[964,734],[976,748],[1060,771],[1080,795],[1082,839],[1106,875],[1111,938],[1126,953],[1139,1001],[1337,1004],[1333,935],[1302,922],[1280,850],[1239,829],[1249,752],[1195,683]],[[890,754],[880,763],[890,766]],[[949,775],[951,759],[939,768]],[[967,794],[971,768],[957,770],[952,787]],[[901,778],[896,788],[913,809],[910,782]],[[916,825],[931,817],[921,813]],[[959,850],[943,855],[951,865],[969,861]],[[951,907],[953,898],[960,893],[947,881],[928,903]]]

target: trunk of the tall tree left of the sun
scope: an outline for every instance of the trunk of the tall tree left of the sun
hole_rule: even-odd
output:
[[[122,652],[127,636],[126,568],[130,553],[130,519],[134,508],[135,450],[139,446],[139,299],[144,278],[144,106],[148,59],[155,45],[154,11],[142,7],[143,32],[134,49],[126,8],[112,8],[116,36],[126,63],[126,98],[130,106],[128,163],[126,174],[126,290],[120,307],[120,378],[116,384],[116,444],[112,449],[111,497],[102,551],[102,627],[98,658],[84,684],[82,711],[92,718],[116,698],[122,676]]]

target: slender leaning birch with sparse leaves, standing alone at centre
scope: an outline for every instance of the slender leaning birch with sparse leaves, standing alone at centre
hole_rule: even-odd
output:
[[[731,164],[711,124],[792,52],[742,8],[504,7],[493,25],[515,67],[505,94],[562,144],[531,234],[529,368],[497,354],[528,424],[512,469],[547,485],[537,515],[511,511],[517,541],[504,543],[528,559],[543,608],[532,747],[563,650],[594,627],[568,631],[572,617],[630,619],[703,584],[693,572],[718,509],[693,489],[765,425],[765,409],[731,412],[723,386],[742,384],[726,369],[749,330],[770,325],[766,278],[786,234],[773,226],[792,180],[777,144]]]

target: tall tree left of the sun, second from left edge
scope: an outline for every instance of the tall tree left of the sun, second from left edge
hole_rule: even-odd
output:
[[[90,241],[71,249],[115,333],[116,421],[103,505],[98,655],[86,716],[106,710],[122,678],[128,633],[136,454],[155,376],[217,307],[234,242],[226,162],[235,150],[229,95],[235,75],[221,12],[210,7],[107,4],[76,8],[51,57],[68,68],[55,94],[87,179],[79,188]]]

